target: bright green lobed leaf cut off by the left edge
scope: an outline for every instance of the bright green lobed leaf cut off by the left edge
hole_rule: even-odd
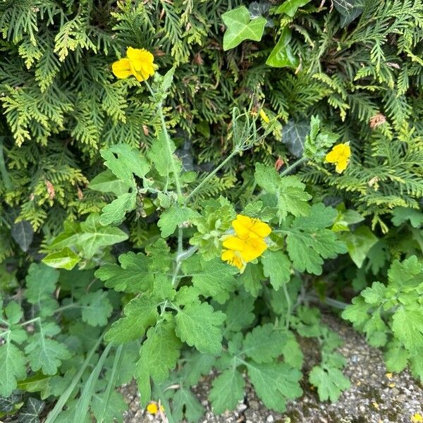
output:
[[[0,346],[0,396],[7,398],[17,388],[17,380],[25,379],[26,359],[23,352],[9,342]]]

